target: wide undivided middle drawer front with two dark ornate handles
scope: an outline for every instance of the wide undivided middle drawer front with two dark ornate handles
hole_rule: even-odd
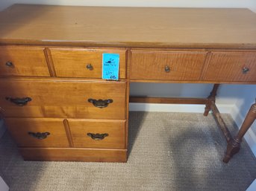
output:
[[[7,117],[125,119],[126,82],[1,80]]]

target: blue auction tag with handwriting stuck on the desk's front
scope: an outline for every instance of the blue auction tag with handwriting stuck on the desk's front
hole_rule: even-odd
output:
[[[119,54],[102,54],[102,79],[118,80]]]

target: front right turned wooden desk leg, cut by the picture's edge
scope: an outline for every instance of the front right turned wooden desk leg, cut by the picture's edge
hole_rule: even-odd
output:
[[[256,118],[256,103],[252,105],[251,109],[248,111],[246,115],[246,119],[243,121],[243,125],[240,128],[237,136],[234,139],[228,141],[227,151],[225,153],[225,157],[223,158],[224,163],[228,163],[228,161],[239,152],[240,143],[242,142],[243,135],[246,134],[252,123]]]

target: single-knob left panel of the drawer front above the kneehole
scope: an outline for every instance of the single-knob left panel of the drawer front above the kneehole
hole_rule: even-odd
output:
[[[199,80],[202,51],[132,51],[132,80]]]

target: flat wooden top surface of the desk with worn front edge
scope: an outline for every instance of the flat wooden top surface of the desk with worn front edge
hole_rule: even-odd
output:
[[[0,44],[256,48],[256,13],[14,4],[0,13]]]

